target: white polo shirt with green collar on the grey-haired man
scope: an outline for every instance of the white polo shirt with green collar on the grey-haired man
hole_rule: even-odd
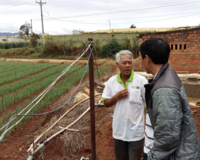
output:
[[[117,101],[113,116],[113,137],[122,141],[138,141],[144,138],[144,101],[147,84],[145,77],[132,72],[132,81],[128,80],[128,97]],[[124,89],[118,82],[120,75],[111,77],[104,88],[102,99],[110,99]],[[121,78],[120,78],[121,79]]]

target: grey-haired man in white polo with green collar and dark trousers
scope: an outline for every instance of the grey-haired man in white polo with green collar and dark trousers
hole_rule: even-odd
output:
[[[132,70],[128,50],[116,54],[120,73],[111,77],[102,94],[104,105],[115,105],[113,138],[116,160],[140,160],[144,140],[144,84],[147,80]]]

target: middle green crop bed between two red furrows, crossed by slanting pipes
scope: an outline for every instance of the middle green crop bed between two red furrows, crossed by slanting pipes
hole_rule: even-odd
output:
[[[81,68],[81,65],[75,65],[69,69],[64,75],[67,76],[68,74],[78,70]],[[13,93],[9,93],[8,95],[0,97],[0,112],[5,111],[9,106],[13,105],[21,101],[23,98],[31,97],[35,92],[40,91],[42,88],[48,86],[58,75],[51,75],[42,81],[38,82],[37,84],[30,84],[22,89],[19,89]]]

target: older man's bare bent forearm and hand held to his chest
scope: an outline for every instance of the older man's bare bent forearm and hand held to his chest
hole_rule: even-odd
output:
[[[112,98],[104,101],[104,106],[106,108],[113,106],[119,99],[126,98],[128,96],[128,90],[123,89],[115,94]]]

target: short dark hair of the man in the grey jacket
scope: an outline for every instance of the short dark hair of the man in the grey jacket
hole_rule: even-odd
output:
[[[154,64],[165,64],[169,59],[170,47],[164,39],[153,37],[141,44],[140,53],[142,59],[148,55]]]

